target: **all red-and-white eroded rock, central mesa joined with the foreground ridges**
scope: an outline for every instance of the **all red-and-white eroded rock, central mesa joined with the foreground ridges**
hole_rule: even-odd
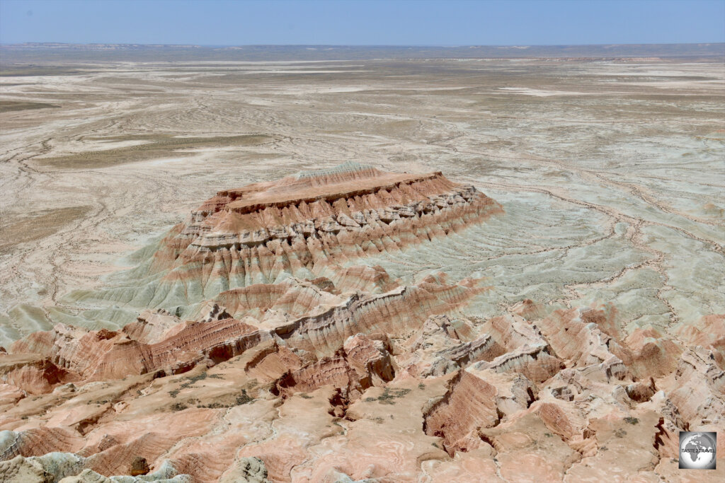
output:
[[[725,424],[721,316],[629,331],[611,305],[527,300],[480,319],[483,280],[405,285],[364,263],[500,213],[440,173],[355,164],[221,191],[134,271],[138,285],[96,295],[149,307],[135,322],[57,324],[0,353],[0,474],[681,478],[677,432]]]

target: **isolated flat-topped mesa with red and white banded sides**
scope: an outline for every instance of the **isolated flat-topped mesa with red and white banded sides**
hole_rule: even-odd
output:
[[[194,280],[210,298],[334,267],[332,275],[347,259],[433,240],[500,211],[491,198],[439,172],[349,167],[339,175],[289,177],[218,193],[170,232],[151,271],[165,273],[167,283]]]

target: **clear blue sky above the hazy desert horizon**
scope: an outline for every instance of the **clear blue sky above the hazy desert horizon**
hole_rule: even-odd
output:
[[[725,41],[725,0],[0,0],[0,43],[562,45]]]

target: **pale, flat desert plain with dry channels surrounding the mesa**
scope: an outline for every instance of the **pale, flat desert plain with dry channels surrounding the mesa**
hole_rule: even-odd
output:
[[[441,170],[506,215],[397,259],[489,277],[477,310],[725,312],[725,67],[705,62],[118,62],[0,75],[0,344],[217,190],[358,161]],[[17,72],[15,72],[17,74]],[[73,310],[74,307],[65,307]]]

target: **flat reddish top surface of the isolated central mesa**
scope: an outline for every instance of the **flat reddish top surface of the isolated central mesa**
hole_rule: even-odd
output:
[[[217,196],[231,198],[228,209],[247,212],[263,206],[285,206],[290,203],[335,200],[358,194],[373,193],[410,183],[442,177],[440,172],[424,175],[382,172],[370,166],[344,163],[331,169],[301,172],[276,182],[260,182],[235,190],[225,190]],[[451,183],[452,185],[452,183]]]

